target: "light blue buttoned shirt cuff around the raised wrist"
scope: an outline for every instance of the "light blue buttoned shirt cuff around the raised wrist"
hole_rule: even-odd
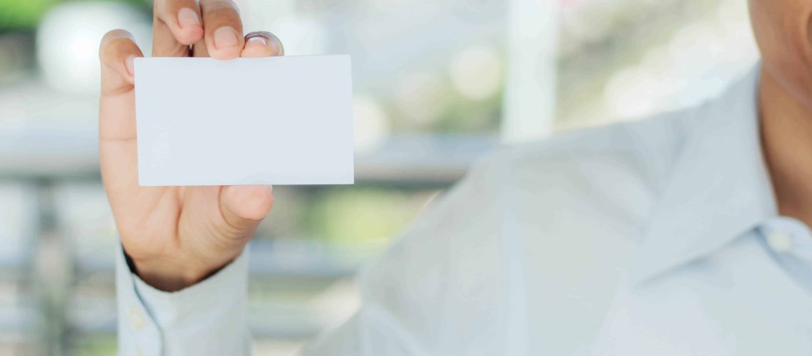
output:
[[[116,254],[119,355],[247,355],[248,250],[197,285],[167,293],[130,271]]]

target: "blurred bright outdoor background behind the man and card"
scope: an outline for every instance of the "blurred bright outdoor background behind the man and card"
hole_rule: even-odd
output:
[[[257,354],[357,306],[352,273],[483,153],[718,94],[758,60],[742,0],[240,0],[287,54],[352,54],[353,187],[275,187]],[[149,54],[149,0],[0,0],[0,354],[114,354],[97,45]]]

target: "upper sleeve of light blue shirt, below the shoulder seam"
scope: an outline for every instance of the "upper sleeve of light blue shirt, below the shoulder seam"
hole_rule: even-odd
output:
[[[481,163],[369,264],[361,307],[305,346],[306,356],[520,354],[524,295],[506,250],[504,170]]]

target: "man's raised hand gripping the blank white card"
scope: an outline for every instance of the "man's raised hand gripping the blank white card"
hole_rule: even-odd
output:
[[[155,0],[155,57],[282,54],[279,39],[268,32],[243,36],[231,0],[200,0],[199,6],[196,0]],[[138,275],[160,290],[180,290],[240,255],[273,198],[267,186],[139,187],[133,59],[143,55],[126,31],[114,30],[102,39],[102,181]]]

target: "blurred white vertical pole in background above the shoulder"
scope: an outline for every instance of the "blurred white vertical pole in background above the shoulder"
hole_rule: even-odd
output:
[[[511,0],[508,77],[502,138],[516,143],[551,132],[555,115],[558,6],[555,0]]]

